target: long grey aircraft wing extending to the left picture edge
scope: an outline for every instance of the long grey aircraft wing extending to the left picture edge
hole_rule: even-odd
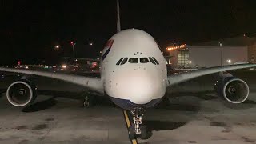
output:
[[[79,76],[74,74],[61,74],[61,73],[53,73],[53,72],[38,71],[38,70],[22,70],[22,69],[4,68],[4,67],[0,67],[0,71],[19,73],[19,74],[31,74],[31,75],[37,75],[37,76],[42,76],[47,78],[55,78],[65,82],[70,82],[70,83],[78,84],[80,86],[85,86],[90,90],[93,90],[100,94],[104,94],[103,83],[101,81],[101,78],[90,78],[90,77],[84,77],[84,76]]]

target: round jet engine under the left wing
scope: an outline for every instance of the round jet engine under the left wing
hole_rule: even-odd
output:
[[[6,97],[14,106],[27,106],[37,97],[37,88],[27,79],[21,79],[10,84],[6,91]]]

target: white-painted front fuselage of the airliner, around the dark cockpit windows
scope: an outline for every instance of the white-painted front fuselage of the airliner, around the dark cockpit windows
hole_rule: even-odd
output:
[[[113,98],[146,104],[162,98],[166,93],[166,60],[154,38],[142,30],[122,30],[110,38],[114,43],[106,58],[101,61],[101,75],[106,94]],[[105,54],[107,47],[102,50]],[[120,58],[154,57],[152,62],[130,63],[117,66]]]

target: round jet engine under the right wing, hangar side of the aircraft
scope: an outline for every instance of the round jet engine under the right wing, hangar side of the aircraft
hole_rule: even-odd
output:
[[[215,91],[227,102],[238,104],[245,102],[249,95],[249,86],[242,79],[226,77],[214,85]]]

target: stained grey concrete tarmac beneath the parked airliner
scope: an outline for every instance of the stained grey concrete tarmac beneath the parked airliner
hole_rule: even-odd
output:
[[[256,72],[234,72],[250,86],[246,102],[230,105],[213,91],[217,75],[173,86],[143,122],[149,138],[130,141],[124,110],[109,98],[82,107],[84,88],[49,78],[36,78],[38,98],[25,108],[11,106],[0,95],[0,143],[256,143]],[[2,90],[14,77],[0,80]]]

